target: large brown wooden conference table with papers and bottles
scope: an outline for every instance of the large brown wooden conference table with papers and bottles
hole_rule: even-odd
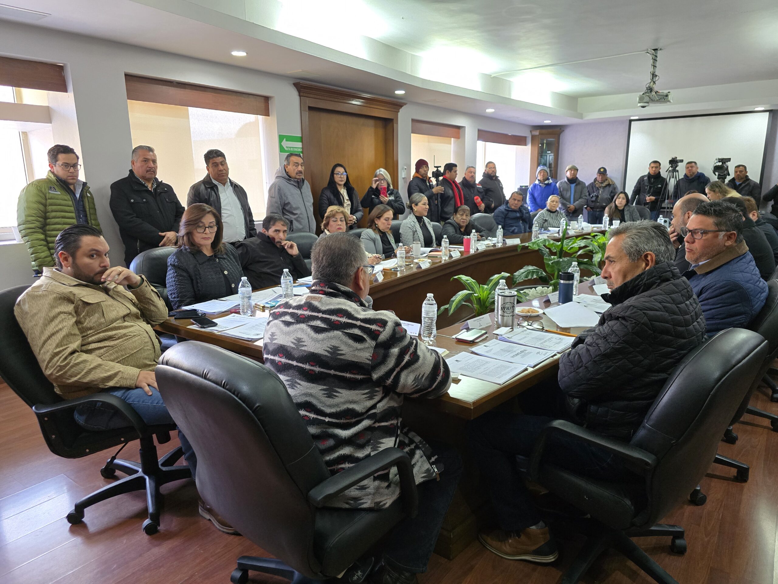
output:
[[[422,301],[427,292],[434,292],[440,305],[441,301],[442,304],[445,304],[450,296],[453,296],[457,290],[461,290],[461,284],[456,281],[454,282],[455,286],[447,286],[450,284],[451,276],[464,273],[474,277],[478,282],[484,283],[489,276],[495,273],[512,274],[524,266],[542,266],[539,252],[527,248],[517,248],[517,244],[524,243],[529,239],[527,235],[513,237],[502,248],[486,248],[471,254],[463,254],[460,258],[450,259],[446,262],[434,259],[431,262],[432,265],[424,269],[410,267],[402,273],[393,273],[384,269],[384,280],[370,287],[373,308],[392,310],[401,320],[419,322]],[[579,294],[594,294],[592,283],[593,280],[580,283]],[[441,294],[440,290],[446,291]],[[546,296],[520,303],[518,306],[549,308],[552,303]],[[213,318],[227,314],[216,315]],[[257,309],[256,315],[264,316],[265,313]],[[443,318],[443,315],[438,316],[439,328],[435,345],[448,351],[445,357],[467,352],[478,344],[496,338],[492,334],[495,329],[493,317],[491,319],[492,325],[479,327],[488,332],[488,335],[479,343],[461,343],[451,338],[460,332],[461,321],[471,316],[471,312],[468,314],[464,310],[461,311],[461,314],[457,312],[449,318]],[[543,323],[545,329],[572,336],[583,330],[560,328],[545,313],[527,317],[524,320],[539,321]],[[457,321],[460,323],[457,324]],[[191,324],[191,321],[186,319],[168,318],[165,322],[157,325],[156,329],[184,339],[210,343],[262,361],[261,339],[254,342],[236,339],[211,332],[209,329],[194,328]],[[406,424],[423,438],[453,445],[463,458],[463,477],[443,522],[443,528],[435,548],[437,554],[447,559],[456,557],[475,540],[478,527],[484,522],[485,513],[488,510],[485,491],[478,484],[477,465],[471,458],[467,445],[468,420],[495,408],[515,408],[514,397],[545,379],[555,378],[558,371],[559,356],[557,355],[534,367],[527,368],[520,375],[502,385],[460,376],[452,380],[450,391],[454,393],[454,396],[447,393],[435,399],[405,399],[402,412],[403,424]]]

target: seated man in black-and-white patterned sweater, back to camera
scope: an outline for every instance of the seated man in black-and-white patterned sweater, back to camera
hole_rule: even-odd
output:
[[[268,318],[265,365],[286,383],[331,473],[392,446],[408,452],[419,514],[394,529],[373,582],[412,584],[426,571],[462,467],[454,449],[432,449],[402,427],[401,406],[404,396],[443,395],[450,371],[393,313],[369,308],[370,266],[359,239],[323,237],[311,262],[310,294],[282,302]],[[399,496],[393,468],[345,491],[332,506],[385,508]]]

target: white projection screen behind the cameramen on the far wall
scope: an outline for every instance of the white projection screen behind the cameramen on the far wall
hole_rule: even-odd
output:
[[[712,181],[716,180],[711,170],[713,160],[731,158],[727,180],[732,178],[735,164],[745,164],[748,176],[761,184],[768,123],[769,111],[631,120],[624,190],[632,194],[637,179],[648,172],[651,160],[659,160],[662,175],[667,176],[672,157],[695,160],[699,171]],[[678,174],[684,174],[684,164],[678,165]]]

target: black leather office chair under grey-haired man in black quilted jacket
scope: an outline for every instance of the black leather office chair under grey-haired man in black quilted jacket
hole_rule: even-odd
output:
[[[591,515],[582,522],[590,538],[562,584],[579,582],[608,547],[621,551],[656,582],[678,584],[630,538],[671,536],[671,551],[686,551],[682,527],[657,522],[705,476],[767,351],[762,336],[744,329],[728,329],[693,350],[675,368],[629,444],[563,420],[545,427],[532,455],[531,478]],[[635,482],[594,480],[555,466],[543,456],[555,433],[612,452],[636,473]]]

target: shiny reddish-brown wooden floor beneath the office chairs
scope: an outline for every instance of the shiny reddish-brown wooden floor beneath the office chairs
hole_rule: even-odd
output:
[[[778,412],[766,390],[752,404]],[[758,418],[738,424],[737,445],[719,452],[752,465],[751,480],[734,482],[728,470],[712,466],[703,479],[708,501],[685,503],[665,519],[686,529],[689,552],[668,550],[668,538],[636,540],[682,584],[772,584],[776,572],[778,515],[778,434]],[[177,445],[173,440],[160,454]],[[131,445],[122,452],[137,459]],[[141,531],[145,496],[124,494],[86,510],[85,521],[70,526],[73,502],[107,483],[100,466],[107,452],[68,460],[51,454],[30,409],[0,384],[0,582],[2,584],[226,584],[241,554],[266,555],[243,537],[217,531],[197,512],[191,480],[167,485],[159,533]],[[734,472],[732,473],[734,474]],[[422,584],[505,582],[552,584],[572,561],[581,540],[562,540],[555,565],[507,561],[471,544],[454,561],[433,555]],[[251,582],[282,582],[259,579]],[[653,582],[617,554],[603,556],[586,582]]]

